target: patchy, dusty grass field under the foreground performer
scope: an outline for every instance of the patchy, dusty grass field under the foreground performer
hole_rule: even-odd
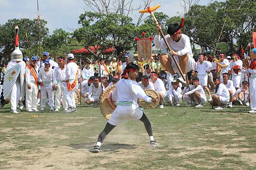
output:
[[[1,170],[255,170],[256,114],[165,106],[145,110],[157,147],[140,121],[125,121],[89,153],[107,120],[99,107],[78,112],[0,110]]]

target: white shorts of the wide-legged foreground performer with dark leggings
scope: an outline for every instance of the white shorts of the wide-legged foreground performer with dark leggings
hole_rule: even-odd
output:
[[[143,115],[137,105],[128,106],[118,105],[110,116],[108,123],[111,125],[119,125],[123,120],[139,120]]]

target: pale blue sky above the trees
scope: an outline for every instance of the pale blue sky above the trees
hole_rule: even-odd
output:
[[[41,19],[47,20],[50,34],[57,28],[73,32],[79,28],[77,23],[79,15],[86,8],[83,0],[38,0]],[[138,2],[139,0],[134,0]],[[218,0],[225,1],[225,0]],[[206,5],[209,0],[201,0],[201,5]],[[162,11],[170,17],[182,12],[181,0],[154,0],[151,6],[160,4],[158,11]],[[136,4],[134,4],[136,6]],[[9,19],[37,18],[37,0],[0,0],[0,24]],[[134,16],[131,16],[134,17]],[[136,16],[135,16],[136,17]]]

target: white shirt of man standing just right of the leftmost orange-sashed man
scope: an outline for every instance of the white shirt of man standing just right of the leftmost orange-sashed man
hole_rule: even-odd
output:
[[[38,74],[38,81],[44,82],[44,84],[50,84],[50,83],[55,84],[56,79],[55,79],[54,70],[50,68],[48,72],[45,72],[44,68],[41,68]]]

